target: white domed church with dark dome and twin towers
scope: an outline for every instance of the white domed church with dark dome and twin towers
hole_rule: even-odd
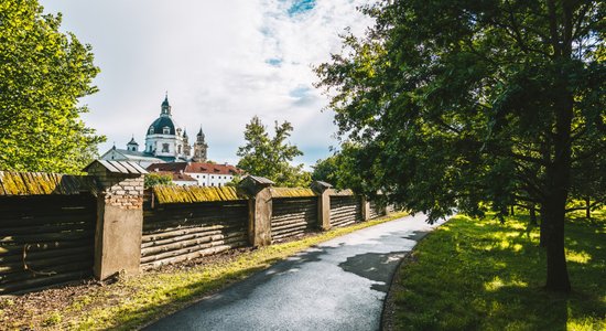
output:
[[[133,161],[143,168],[152,163],[161,162],[205,162],[208,145],[205,141],[202,127],[192,146],[190,146],[187,132],[173,119],[169,96],[164,98],[158,117],[145,132],[145,146],[139,151],[139,143],[134,137],[127,143],[127,149],[118,149],[116,146],[101,156],[101,160]]]

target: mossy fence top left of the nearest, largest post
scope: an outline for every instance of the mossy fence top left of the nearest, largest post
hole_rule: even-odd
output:
[[[0,195],[96,193],[97,182],[88,175],[0,171]]]

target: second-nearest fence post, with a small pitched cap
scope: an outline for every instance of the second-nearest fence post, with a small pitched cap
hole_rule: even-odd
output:
[[[239,183],[239,186],[250,195],[248,241],[255,247],[271,245],[271,185],[272,181],[257,175],[248,175]]]

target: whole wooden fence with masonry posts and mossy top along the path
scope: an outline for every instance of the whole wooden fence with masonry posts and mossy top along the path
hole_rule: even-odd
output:
[[[128,273],[138,273],[380,215],[372,203],[362,215],[364,200],[349,190],[143,192],[144,170],[108,162],[91,163],[90,177],[0,171],[0,296],[93,275],[102,279],[107,276],[99,275],[111,275],[108,269],[126,268],[126,260],[133,267]],[[268,242],[255,242],[259,238]]]

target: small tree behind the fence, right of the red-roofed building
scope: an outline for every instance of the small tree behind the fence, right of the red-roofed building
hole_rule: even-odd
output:
[[[311,182],[303,164],[290,162],[303,152],[296,146],[286,142],[293,127],[290,122],[275,121],[275,136],[270,137],[266,126],[255,116],[246,126],[246,143],[238,148],[238,168],[246,172],[268,178],[279,186],[307,186]]]

